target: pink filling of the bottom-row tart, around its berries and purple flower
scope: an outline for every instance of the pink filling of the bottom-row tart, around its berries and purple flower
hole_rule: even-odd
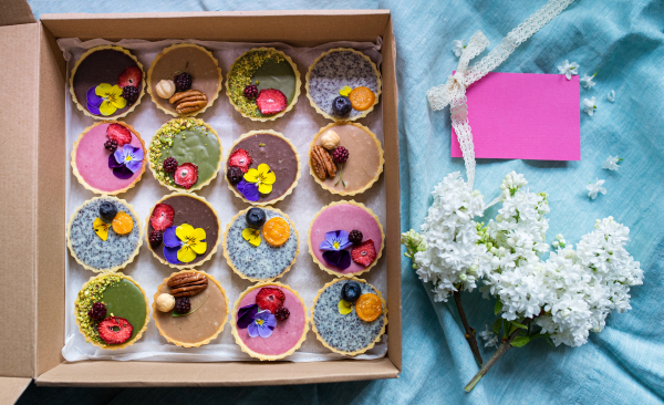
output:
[[[286,353],[291,350],[295,343],[302,338],[302,331],[304,330],[304,307],[302,302],[288,289],[280,288],[286,295],[283,307],[288,308],[290,315],[286,321],[277,321],[277,326],[272,331],[270,338],[250,338],[247,329],[238,329],[238,334],[247,347],[251,349],[256,353],[277,355]],[[242,301],[240,307],[247,307],[256,303],[256,295],[260,291],[260,288],[251,290]],[[237,313],[234,313],[237,320]]]

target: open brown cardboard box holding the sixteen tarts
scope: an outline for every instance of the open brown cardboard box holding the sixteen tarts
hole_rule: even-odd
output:
[[[122,20],[122,24],[117,23]],[[251,23],[249,23],[251,21]],[[6,189],[0,196],[0,392],[38,385],[277,385],[397,377],[402,367],[400,170],[395,42],[388,10],[43,14],[23,0],[0,4],[0,112]],[[58,38],[281,41],[297,46],[383,39],[387,222],[387,356],[313,363],[68,363],[64,344],[65,62]],[[11,101],[11,102],[9,102]],[[15,394],[15,395],[14,395]]]

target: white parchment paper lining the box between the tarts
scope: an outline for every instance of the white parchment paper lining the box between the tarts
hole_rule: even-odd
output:
[[[83,52],[85,52],[85,50],[102,44],[117,44],[132,51],[132,53],[143,64],[145,73],[147,73],[149,65],[157,53],[159,53],[164,48],[177,42],[197,43],[211,51],[215,58],[218,60],[219,66],[221,68],[224,82],[226,81],[226,75],[228,74],[228,71],[230,70],[230,66],[235,60],[251,48],[273,46],[291,56],[298,65],[300,76],[302,79],[301,94],[298,98],[295,107],[287,113],[286,116],[267,123],[258,123],[245,118],[238,114],[230,104],[228,96],[225,93],[226,87],[224,86],[219,94],[219,98],[217,98],[215,104],[204,114],[197,115],[196,117],[204,120],[217,131],[219,138],[221,139],[221,146],[224,147],[224,155],[227,155],[232,142],[241,134],[255,129],[278,131],[295,145],[298,153],[300,154],[300,159],[302,160],[300,181],[292,195],[287,197],[286,200],[278,202],[274,207],[288,214],[291,220],[294,222],[300,237],[300,253],[298,255],[295,264],[289,272],[280,278],[279,281],[292,287],[300,293],[304,300],[304,303],[309,307],[309,315],[311,315],[311,305],[318,290],[322,288],[323,284],[331,281],[333,277],[326,272],[323,272],[313,263],[307,246],[307,232],[313,216],[323,206],[330,204],[331,201],[341,200],[343,198],[340,196],[333,196],[323,190],[313,180],[309,173],[309,164],[307,158],[309,143],[311,142],[313,135],[321,127],[328,125],[330,121],[323,118],[320,114],[317,114],[313,107],[310,105],[305,95],[304,77],[309,65],[315,60],[315,58],[329,49],[340,46],[353,48],[364,52],[380,68],[381,39],[378,38],[376,43],[334,42],[317,48],[292,48],[283,43],[237,43],[196,40],[165,40],[157,42],[144,40],[123,40],[120,42],[92,40],[82,42],[77,39],[61,39],[58,41],[61,50],[64,53],[64,58],[68,61],[68,72],[71,72],[75,61],[81,56],[81,54],[83,54]],[[79,184],[72,174],[70,164],[73,143],[79,137],[79,134],[83,132],[83,129],[94,123],[94,120],[85,116],[76,108],[72,102],[69,89],[66,90],[65,95],[68,147],[68,175],[65,187],[66,224],[69,224],[71,215],[74,212],[74,210],[84,201],[94,197],[91,191],[86,190],[81,184]],[[376,134],[381,142],[383,142],[382,117],[383,108],[381,102],[378,103],[377,107],[369,114],[367,117],[360,120],[360,123],[369,126],[371,131]],[[148,145],[155,132],[170,118],[173,118],[173,116],[166,115],[164,112],[157,110],[155,104],[152,102],[149,94],[146,93],[143,96],[141,104],[134,110],[134,112],[129,113],[125,118],[123,118],[123,121],[133,125],[134,128],[141,134],[141,137],[143,137],[146,145]],[[219,220],[221,222],[221,231],[226,229],[226,226],[232,216],[235,216],[239,210],[248,207],[247,204],[242,202],[228,189],[226,179],[222,177],[224,173],[220,173],[210,185],[197,191],[198,195],[210,201],[218,211]],[[127,193],[121,194],[118,197],[127,200],[135,208],[141,217],[142,227],[144,228],[149,209],[158,199],[168,194],[170,194],[170,191],[160,186],[153,177],[149,169],[146,169],[146,173],[143,175],[141,181],[138,181],[134,188]],[[383,225],[386,224],[384,175],[381,175],[380,180],[376,181],[371,189],[362,195],[355,196],[354,199],[364,202],[378,216]],[[66,246],[64,249],[66,249]],[[224,332],[221,332],[216,340],[207,345],[194,349],[179,347],[168,343],[159,335],[152,315],[143,338],[127,349],[106,351],[86,343],[83,335],[79,332],[79,328],[74,321],[74,301],[83,283],[94,274],[76,263],[69,251],[66,251],[66,258],[65,344],[62,349],[62,355],[65,360],[71,362],[82,360],[141,360],[169,362],[218,362],[252,360],[235,343],[235,339],[230,333],[231,328],[229,323],[226,324]],[[231,308],[239,294],[252,284],[247,280],[240,279],[240,277],[232,272],[232,270],[226,263],[221,247],[219,247],[211,260],[205,262],[197,269],[204,270],[219,280],[226,290],[226,294],[230,301]],[[141,287],[143,287],[143,289],[146,291],[152,305],[153,295],[156,291],[156,288],[165,278],[170,276],[173,269],[157,261],[144,241],[143,246],[141,247],[139,255],[136,257],[133,263],[123,270],[123,272],[138,281]],[[363,274],[363,278],[381,290],[383,294],[386,294],[386,262],[384,256],[377,266],[375,266],[369,273]],[[372,350],[367,351],[363,355],[356,356],[355,359],[366,360],[383,357],[386,352],[387,336],[384,335],[382,341]],[[310,330],[307,335],[307,341],[302,344],[300,350],[286,360],[293,362],[312,362],[335,360],[343,356],[332,353],[325,349],[315,339],[315,334]]]

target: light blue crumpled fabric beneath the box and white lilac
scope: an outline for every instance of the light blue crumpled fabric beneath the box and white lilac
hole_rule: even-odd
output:
[[[402,228],[417,228],[429,193],[449,172],[464,170],[449,157],[449,111],[432,112],[426,91],[443,83],[457,59],[452,41],[483,30],[492,49],[544,0],[528,1],[153,1],[32,0],[45,12],[144,12],[266,9],[391,9],[397,41]],[[596,85],[581,90],[599,102],[581,116],[581,162],[478,162],[476,188],[490,200],[510,170],[523,173],[531,190],[550,195],[550,232],[577,242],[596,218],[613,216],[631,229],[629,251],[641,261],[644,285],[632,290],[633,309],[612,314],[606,329],[577,349],[535,341],[509,351],[471,394],[464,385],[477,366],[448,304],[433,303],[403,261],[403,373],[398,380],[250,388],[82,390],[31,386],[22,403],[324,403],[324,404],[654,404],[664,398],[664,2],[579,0],[522,44],[497,71],[558,73],[566,59],[581,74],[599,70]],[[615,90],[611,104],[606,93]],[[580,106],[581,107],[581,106]],[[473,112],[469,113],[473,125]],[[609,155],[624,160],[602,170]],[[591,200],[585,185],[606,179],[605,196]],[[495,215],[495,212],[492,212]],[[492,323],[492,301],[466,293],[470,323]],[[490,350],[484,350],[488,359]]]

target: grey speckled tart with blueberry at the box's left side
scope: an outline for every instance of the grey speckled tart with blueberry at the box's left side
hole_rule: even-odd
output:
[[[126,235],[118,235],[108,229],[106,240],[102,240],[93,228],[100,217],[100,205],[111,202],[117,211],[132,217],[133,228]],[[72,257],[86,270],[94,272],[113,272],[124,269],[134,261],[143,243],[143,229],[138,214],[124,199],[113,196],[101,196],[90,199],[76,208],[66,227],[66,245]]]

